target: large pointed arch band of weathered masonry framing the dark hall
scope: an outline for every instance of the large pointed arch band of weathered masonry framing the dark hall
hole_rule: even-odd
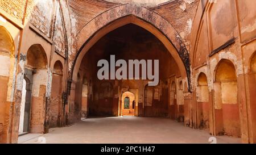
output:
[[[101,37],[130,23],[146,29],[162,41],[179,66],[182,78],[187,79],[188,88],[191,91],[189,53],[179,33],[170,22],[156,12],[135,4],[125,4],[105,11],[82,28],[77,35],[78,52],[69,64],[72,66],[69,73],[70,79],[77,81],[82,58]]]

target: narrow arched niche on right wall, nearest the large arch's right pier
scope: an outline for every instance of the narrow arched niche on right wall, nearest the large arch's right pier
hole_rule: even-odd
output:
[[[200,73],[196,87],[197,122],[199,128],[209,129],[209,89],[207,76]]]

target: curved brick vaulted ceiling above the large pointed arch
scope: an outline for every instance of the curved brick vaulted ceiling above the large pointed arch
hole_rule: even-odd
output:
[[[185,45],[190,43],[190,34],[193,19],[195,18],[199,0],[68,0],[69,9],[77,20],[77,32],[79,32],[90,20],[96,18],[102,12],[123,5],[123,3],[155,4],[146,5],[148,9],[155,11],[175,27],[184,40]],[[161,3],[163,2],[163,3]],[[160,4],[159,4],[160,3]]]

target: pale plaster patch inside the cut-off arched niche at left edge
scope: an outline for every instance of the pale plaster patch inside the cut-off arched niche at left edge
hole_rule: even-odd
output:
[[[10,76],[10,56],[0,55],[0,76],[9,77]]]

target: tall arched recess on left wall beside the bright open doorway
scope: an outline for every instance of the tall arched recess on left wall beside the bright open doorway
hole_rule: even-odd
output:
[[[24,77],[32,83],[31,95],[26,95],[25,103],[30,107],[31,133],[43,133],[46,121],[46,86],[47,86],[47,56],[42,45],[34,44],[27,51]],[[28,92],[26,93],[28,94]]]

